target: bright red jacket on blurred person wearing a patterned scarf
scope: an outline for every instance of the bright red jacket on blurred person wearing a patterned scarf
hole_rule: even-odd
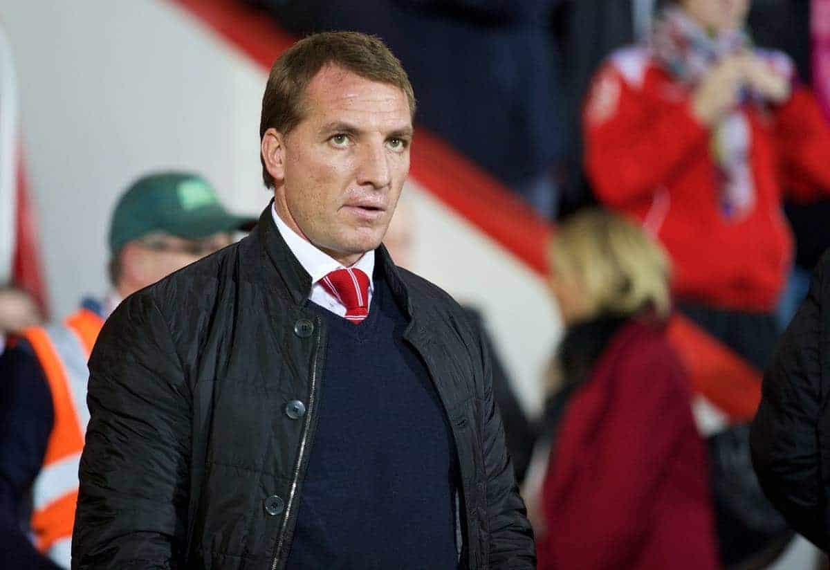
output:
[[[792,66],[783,54],[767,55]],[[830,129],[805,87],[776,108],[747,105],[756,202],[740,222],[726,222],[709,130],[689,102],[647,48],[617,51],[594,78],[583,113],[588,176],[601,202],[659,236],[678,298],[770,312],[792,261],[783,189],[803,200],[830,191]]]

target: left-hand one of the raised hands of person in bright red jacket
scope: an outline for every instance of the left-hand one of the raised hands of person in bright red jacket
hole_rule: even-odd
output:
[[[745,83],[748,56],[726,57],[701,80],[691,96],[691,110],[701,123],[712,125],[735,108]]]

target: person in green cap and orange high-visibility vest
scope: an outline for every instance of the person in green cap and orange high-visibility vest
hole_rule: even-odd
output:
[[[120,300],[232,243],[252,221],[230,214],[193,173],[139,178],[110,222],[110,294],[62,323],[25,329],[0,357],[0,559],[9,568],[69,568],[78,467],[89,411],[86,361]],[[32,543],[19,501],[32,494]],[[36,550],[37,548],[37,550]],[[39,551],[39,552],[38,552]]]

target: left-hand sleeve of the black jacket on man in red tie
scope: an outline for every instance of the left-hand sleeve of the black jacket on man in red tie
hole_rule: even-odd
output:
[[[107,320],[87,403],[72,568],[181,568],[191,399],[149,295],[129,297]]]

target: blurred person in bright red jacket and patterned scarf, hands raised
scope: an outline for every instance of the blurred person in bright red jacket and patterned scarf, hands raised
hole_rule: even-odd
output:
[[[666,246],[681,310],[762,368],[792,266],[786,190],[830,191],[830,129],[779,51],[752,45],[749,0],[676,0],[598,71],[583,111],[600,202]]]

